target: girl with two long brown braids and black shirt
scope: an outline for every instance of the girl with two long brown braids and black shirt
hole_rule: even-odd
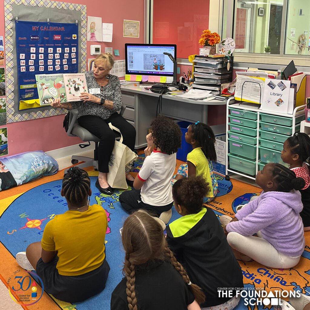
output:
[[[167,246],[162,228],[141,210],[125,220],[125,277],[111,295],[111,310],[200,310],[205,300]]]

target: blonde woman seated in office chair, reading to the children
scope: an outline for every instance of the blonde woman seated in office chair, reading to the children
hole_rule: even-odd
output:
[[[92,71],[86,71],[86,82],[89,93],[81,92],[80,100],[60,103],[60,99],[51,103],[54,108],[79,108],[78,123],[100,139],[98,147],[99,176],[96,187],[101,193],[110,195],[112,188],[107,182],[109,159],[113,151],[115,135],[108,126],[112,123],[123,135],[123,144],[132,151],[135,148],[135,127],[117,113],[122,108],[122,94],[119,79],[109,74],[113,68],[112,54],[100,54],[94,60]],[[128,185],[133,184],[134,178],[126,175]]]

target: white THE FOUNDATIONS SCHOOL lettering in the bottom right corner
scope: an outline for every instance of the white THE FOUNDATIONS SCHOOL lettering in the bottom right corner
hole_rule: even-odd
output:
[[[245,306],[281,306],[281,299],[287,297],[300,297],[299,291],[274,290],[267,292],[260,288],[244,287],[233,290],[231,287],[218,287],[218,297],[220,298],[243,298]]]

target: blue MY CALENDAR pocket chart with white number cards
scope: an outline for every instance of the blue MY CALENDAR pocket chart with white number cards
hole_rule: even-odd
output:
[[[36,74],[78,72],[78,24],[15,21],[19,110],[39,108]]]

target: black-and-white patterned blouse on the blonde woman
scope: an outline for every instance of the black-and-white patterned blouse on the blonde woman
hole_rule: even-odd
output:
[[[106,77],[109,81],[105,86],[99,86],[92,71],[86,71],[85,77],[88,92],[90,88],[100,88],[100,94],[94,94],[94,96],[113,101],[114,108],[113,110],[110,110],[103,105],[90,101],[70,102],[73,109],[79,109],[78,118],[85,115],[94,115],[107,119],[122,108],[121,83],[116,75],[107,74]]]

